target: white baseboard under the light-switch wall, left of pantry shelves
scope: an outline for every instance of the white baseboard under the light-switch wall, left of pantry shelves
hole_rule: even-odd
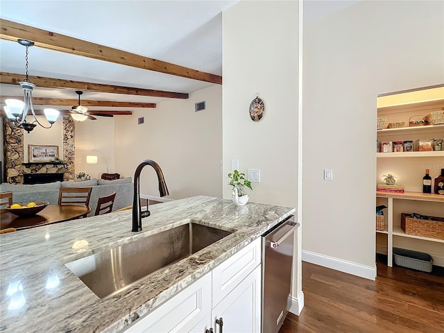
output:
[[[306,250],[302,250],[302,260],[304,262],[311,262],[311,264],[332,268],[336,271],[360,276],[361,278],[366,278],[368,280],[375,280],[376,276],[375,266],[364,266],[356,264],[355,262],[348,262],[347,260],[320,255],[319,253]]]

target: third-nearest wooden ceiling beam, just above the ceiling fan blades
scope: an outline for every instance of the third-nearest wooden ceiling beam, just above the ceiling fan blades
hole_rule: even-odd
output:
[[[6,99],[23,99],[23,96],[0,96],[0,103]],[[33,97],[33,105],[77,105],[77,99],[47,99]],[[155,108],[155,103],[119,102],[119,101],[87,101],[81,100],[83,106],[100,106],[105,108]]]

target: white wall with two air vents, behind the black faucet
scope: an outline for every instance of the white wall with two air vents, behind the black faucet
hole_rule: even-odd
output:
[[[164,173],[169,198],[221,197],[221,99],[221,86],[214,85],[189,94],[189,99],[170,99],[116,118],[116,171],[133,177],[142,160],[154,160]],[[194,103],[200,101],[206,101],[206,110],[195,112]],[[139,117],[144,117],[141,125]],[[142,171],[140,192],[159,196],[151,167]]]

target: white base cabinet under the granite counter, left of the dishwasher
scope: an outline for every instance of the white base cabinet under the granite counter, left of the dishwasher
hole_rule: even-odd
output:
[[[260,332],[261,239],[253,241],[180,291],[126,332]]]

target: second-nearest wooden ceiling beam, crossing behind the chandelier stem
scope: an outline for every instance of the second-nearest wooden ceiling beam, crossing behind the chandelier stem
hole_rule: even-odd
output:
[[[0,83],[19,85],[24,80],[23,74],[0,72]],[[29,80],[37,87],[73,89],[89,92],[109,92],[111,94],[126,94],[139,96],[164,97],[167,99],[188,99],[188,94],[181,92],[162,92],[161,90],[121,87],[118,85],[103,85],[101,83],[88,83],[81,81],[62,80],[59,78],[44,78],[42,76],[29,76]]]

